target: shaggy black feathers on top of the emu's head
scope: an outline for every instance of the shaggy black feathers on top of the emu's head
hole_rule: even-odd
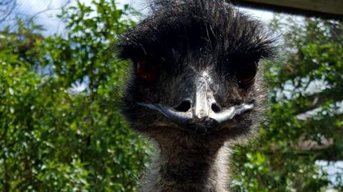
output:
[[[154,1],[151,10],[151,16],[119,43],[121,58],[178,60],[200,48],[202,55],[211,54],[218,63],[273,55],[274,40],[264,25],[224,1]]]

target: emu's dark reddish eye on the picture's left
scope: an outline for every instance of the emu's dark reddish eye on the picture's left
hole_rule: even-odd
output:
[[[137,62],[136,72],[142,80],[151,82],[157,78],[156,65],[148,63],[145,59],[141,59]]]

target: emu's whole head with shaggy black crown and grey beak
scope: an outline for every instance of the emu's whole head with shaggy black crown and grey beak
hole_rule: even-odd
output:
[[[154,9],[119,43],[132,61],[123,107],[131,127],[153,138],[252,133],[264,101],[259,61],[272,55],[262,24],[222,1]]]

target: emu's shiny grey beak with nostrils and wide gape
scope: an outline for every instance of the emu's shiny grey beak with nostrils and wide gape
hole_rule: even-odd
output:
[[[168,119],[182,127],[203,127],[205,130],[209,127],[218,127],[220,124],[233,119],[236,115],[242,114],[254,107],[253,104],[242,103],[234,105],[221,111],[214,111],[212,105],[217,105],[214,99],[214,93],[209,87],[211,78],[207,73],[202,73],[195,79],[194,92],[192,98],[184,100],[190,102],[189,109],[186,112],[175,110],[162,104],[137,103],[151,110],[160,112]]]

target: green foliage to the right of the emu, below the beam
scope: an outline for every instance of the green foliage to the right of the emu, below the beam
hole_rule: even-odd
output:
[[[271,90],[270,121],[262,125],[259,141],[237,147],[232,188],[342,190],[342,179],[331,183],[315,164],[317,160],[343,159],[339,110],[343,100],[342,23],[277,17],[272,27],[284,34],[281,54],[285,56],[279,62],[265,63]],[[289,29],[286,33],[285,28]]]

